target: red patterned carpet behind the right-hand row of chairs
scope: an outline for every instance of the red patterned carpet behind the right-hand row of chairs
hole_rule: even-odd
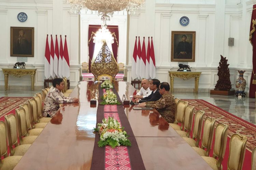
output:
[[[224,111],[223,109],[200,99],[182,99],[188,101],[189,105],[195,106],[195,111],[202,110],[205,112],[205,116],[210,116],[216,119],[216,123],[222,122],[229,125],[228,128],[228,140],[227,148],[222,162],[223,169],[227,169],[228,155],[229,155],[229,140],[234,133],[238,133],[247,136],[245,159],[243,163],[243,170],[251,169],[252,150],[256,146],[256,126],[250,122],[247,122],[231,113]],[[199,142],[201,143],[201,142]],[[213,142],[214,143],[214,142]],[[212,156],[212,151],[210,153]]]

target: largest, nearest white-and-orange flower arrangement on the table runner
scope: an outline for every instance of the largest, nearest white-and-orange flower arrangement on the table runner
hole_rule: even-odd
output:
[[[115,148],[117,146],[131,146],[131,141],[127,139],[127,133],[124,131],[124,127],[120,126],[120,123],[113,117],[103,119],[102,123],[98,123],[97,128],[94,128],[94,132],[98,132],[100,135],[100,141],[98,141],[99,147],[106,145]]]

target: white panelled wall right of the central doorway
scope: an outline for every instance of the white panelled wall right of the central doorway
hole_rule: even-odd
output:
[[[170,57],[171,31],[196,31],[195,62],[188,62],[188,65],[193,67],[191,70],[202,72],[199,91],[214,88],[218,80],[220,55],[226,57],[230,64],[232,88],[235,88],[234,83],[239,77],[237,70],[246,70],[244,78],[248,91],[252,72],[252,46],[248,38],[253,4],[256,4],[255,0],[241,0],[241,3],[240,0],[153,0],[150,4],[146,3],[139,15],[130,15],[127,81],[131,81],[135,36],[153,36],[156,78],[170,82],[168,71],[178,69],[178,62],[171,62]],[[148,8],[153,11],[148,11]],[[152,14],[152,20],[147,20],[147,16]],[[190,20],[186,27],[179,23],[182,16]],[[152,25],[154,31],[149,34],[146,30]],[[234,38],[234,46],[228,46],[229,37]],[[175,88],[184,90],[193,87],[193,79],[186,82],[174,79],[174,91]]]

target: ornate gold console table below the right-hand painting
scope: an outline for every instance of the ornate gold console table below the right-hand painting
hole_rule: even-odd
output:
[[[174,77],[181,78],[183,80],[188,80],[195,78],[195,93],[198,93],[198,82],[202,72],[199,71],[169,71],[170,83],[171,83],[171,93],[173,93],[173,82]]]

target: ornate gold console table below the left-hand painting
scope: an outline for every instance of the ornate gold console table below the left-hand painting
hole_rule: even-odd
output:
[[[37,69],[25,69],[25,68],[2,68],[4,74],[4,86],[5,90],[8,90],[8,78],[9,74],[15,77],[22,77],[24,75],[30,74],[31,76],[31,90],[34,91],[34,78],[35,71]]]

